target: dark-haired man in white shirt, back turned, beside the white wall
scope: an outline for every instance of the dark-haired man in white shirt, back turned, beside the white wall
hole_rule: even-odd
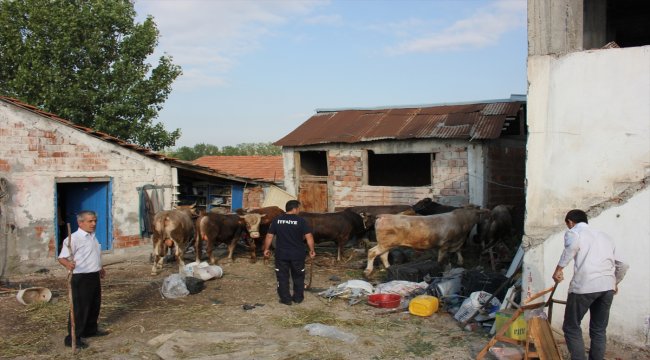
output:
[[[569,230],[564,234],[564,252],[553,273],[556,283],[564,280],[563,269],[573,260],[573,278],[562,324],[564,339],[572,360],[587,358],[580,322],[589,311],[589,359],[602,360],[607,343],[609,309],[628,265],[617,257],[614,241],[587,224],[584,211],[569,211],[564,222]]]

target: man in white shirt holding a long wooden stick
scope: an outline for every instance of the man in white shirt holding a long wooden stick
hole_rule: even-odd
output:
[[[101,245],[95,238],[97,215],[93,211],[80,211],[77,214],[79,229],[70,239],[63,241],[59,263],[72,272],[72,302],[74,304],[76,346],[88,347],[82,337],[104,336],[108,332],[98,328],[99,309],[102,301],[101,280],[105,271],[102,266]],[[68,335],[65,346],[72,346],[68,317]]]

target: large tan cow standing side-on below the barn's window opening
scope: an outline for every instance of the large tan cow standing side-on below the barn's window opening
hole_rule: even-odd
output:
[[[463,263],[460,249],[470,231],[481,215],[490,210],[467,206],[452,212],[425,216],[382,215],[375,222],[377,245],[368,250],[368,265],[364,271],[367,277],[372,274],[373,263],[379,256],[385,268],[388,263],[388,251],[398,246],[415,250],[438,248],[438,263],[442,262],[448,252],[455,252],[458,264]]]

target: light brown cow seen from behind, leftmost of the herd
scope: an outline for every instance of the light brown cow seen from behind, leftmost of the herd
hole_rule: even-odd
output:
[[[153,267],[151,275],[156,275],[162,268],[167,249],[173,247],[179,272],[182,273],[185,263],[183,252],[192,241],[194,225],[189,213],[183,210],[159,211],[154,216],[153,228]]]

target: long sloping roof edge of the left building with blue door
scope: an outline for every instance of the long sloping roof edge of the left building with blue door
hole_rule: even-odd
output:
[[[255,179],[243,178],[243,177],[239,177],[239,176],[233,176],[231,174],[222,173],[222,172],[219,172],[219,171],[215,171],[214,169],[211,169],[211,168],[206,167],[206,166],[195,165],[195,164],[192,164],[189,161],[176,159],[176,158],[167,156],[165,154],[157,153],[155,151],[152,151],[151,149],[148,149],[148,148],[136,145],[136,144],[131,144],[129,142],[126,142],[124,140],[116,138],[116,137],[114,137],[112,135],[109,135],[109,134],[106,134],[106,133],[103,133],[103,132],[100,132],[100,131],[96,131],[94,129],[91,129],[91,128],[88,128],[88,127],[85,127],[85,126],[77,125],[77,124],[73,123],[72,121],[60,118],[55,114],[49,113],[47,111],[43,111],[43,110],[37,108],[36,106],[26,104],[26,103],[24,103],[24,102],[22,102],[22,101],[20,101],[18,99],[6,97],[6,96],[0,96],[0,101],[12,104],[12,105],[17,106],[19,108],[22,108],[24,110],[27,110],[27,111],[30,111],[30,112],[35,113],[37,115],[40,115],[42,117],[48,118],[48,119],[50,119],[52,121],[56,121],[56,122],[58,122],[60,124],[69,126],[71,128],[74,128],[74,129],[77,129],[77,130],[79,130],[79,131],[81,131],[81,132],[83,132],[83,133],[85,133],[87,135],[96,137],[96,138],[98,138],[100,140],[113,143],[115,145],[121,146],[121,147],[129,149],[131,151],[135,151],[135,152],[137,152],[137,153],[139,153],[139,154],[141,154],[143,156],[152,158],[154,160],[158,160],[158,161],[168,163],[171,166],[174,166],[174,167],[177,167],[177,168],[182,168],[182,169],[185,169],[185,170],[188,170],[188,171],[200,172],[200,173],[205,174],[205,175],[215,176],[215,177],[219,177],[219,178],[227,179],[227,180],[232,180],[232,181],[236,181],[236,182],[242,182],[242,183],[247,183],[247,182],[248,183],[250,183],[250,182],[254,183],[255,182]]]

